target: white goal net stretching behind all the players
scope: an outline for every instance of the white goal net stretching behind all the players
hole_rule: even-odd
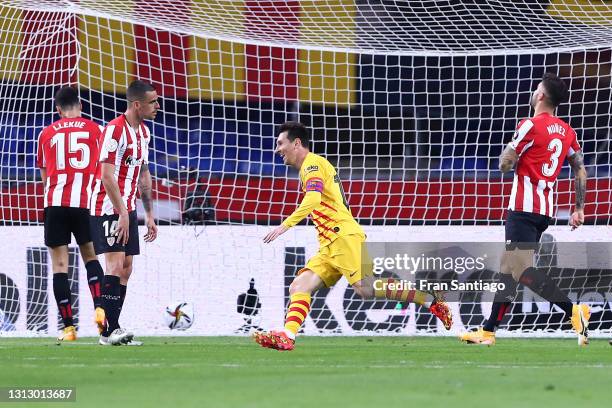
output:
[[[0,259],[8,268],[0,271],[0,335],[58,329],[35,154],[38,133],[57,119],[60,86],[76,86],[84,116],[100,124],[125,110],[134,79],[150,81],[161,96],[161,112],[148,123],[160,234],[141,242],[122,323],[140,335],[170,333],[165,306],[187,301],[196,313],[188,334],[232,334],[279,326],[288,284],[318,249],[309,222],[262,242],[301,198],[296,171],[274,156],[276,126],[297,120],[312,129],[312,150],[338,170],[369,241],[454,242],[461,251],[461,243],[503,246],[512,180],[497,170],[497,157],[518,120],[531,114],[530,96],[546,72],[569,85],[570,101],[558,115],[579,135],[589,179],[587,225],[570,232],[573,175],[564,165],[556,225],[539,265],[573,300],[593,305],[595,334],[610,334],[609,4],[2,4]],[[597,244],[560,250],[576,248],[566,242]],[[461,279],[492,280],[495,262]],[[70,266],[80,332],[94,334],[77,248]],[[508,333],[569,334],[559,310],[528,290],[517,299],[503,324]],[[491,300],[486,293],[455,299],[455,330],[482,324]],[[361,302],[342,280],[317,293],[304,330],[420,334],[440,327],[414,305]]]

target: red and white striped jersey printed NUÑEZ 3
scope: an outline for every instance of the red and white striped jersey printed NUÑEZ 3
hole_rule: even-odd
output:
[[[510,147],[519,159],[508,208],[552,217],[557,176],[565,158],[580,150],[576,132],[561,119],[541,113],[519,123]]]

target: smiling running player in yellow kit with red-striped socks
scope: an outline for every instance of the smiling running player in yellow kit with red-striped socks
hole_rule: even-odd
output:
[[[264,237],[264,242],[274,241],[310,215],[319,238],[319,252],[298,271],[289,286],[290,304],[285,327],[255,333],[255,341],[263,347],[293,350],[295,336],[310,311],[311,293],[323,285],[333,286],[342,276],[363,299],[379,298],[424,305],[442,321],[446,329],[450,329],[451,312],[437,294],[388,289],[386,283],[392,282],[392,279],[378,278],[383,281],[382,284],[374,285],[367,254],[362,260],[365,234],[348,208],[336,169],[325,158],[310,152],[309,142],[310,137],[303,124],[286,122],[280,127],[276,153],[286,165],[299,170],[305,194],[300,206],[281,225],[270,231]]]

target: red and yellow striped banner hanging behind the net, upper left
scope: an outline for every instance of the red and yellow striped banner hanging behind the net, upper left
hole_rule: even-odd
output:
[[[127,0],[126,13],[177,26],[205,21],[207,0],[175,0],[172,13],[157,1]],[[308,43],[334,33],[320,29],[316,1],[219,0],[231,13],[225,24],[247,38],[268,30]],[[167,3],[166,3],[167,4]],[[326,15],[343,37],[355,31],[353,1],[326,3]],[[154,83],[170,98],[289,100],[347,105],[355,102],[356,56],[345,52],[244,45],[177,34],[101,17],[26,12],[0,7],[0,77],[34,84],[76,83],[123,93],[135,78]],[[238,22],[238,24],[237,24]],[[221,20],[216,22],[224,24]],[[223,28],[223,27],[221,27]],[[278,38],[278,35],[275,37]]]

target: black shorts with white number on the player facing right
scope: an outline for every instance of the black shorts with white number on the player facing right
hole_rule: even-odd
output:
[[[127,245],[119,244],[113,231],[119,221],[119,214],[102,215],[100,217],[91,216],[91,236],[93,237],[96,255],[107,252],[125,252],[126,255],[138,255],[140,253],[140,243],[138,242],[138,217],[136,211],[129,213],[130,236]]]

